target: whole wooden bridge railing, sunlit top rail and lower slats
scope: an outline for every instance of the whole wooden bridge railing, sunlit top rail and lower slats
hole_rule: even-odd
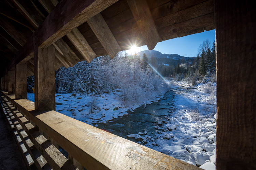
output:
[[[34,102],[7,92],[1,92],[1,102],[38,169],[199,169],[61,113],[35,112]]]

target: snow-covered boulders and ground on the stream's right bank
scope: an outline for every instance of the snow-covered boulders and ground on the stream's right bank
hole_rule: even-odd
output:
[[[138,143],[184,160],[200,168],[215,169],[216,157],[216,83],[189,87],[178,82],[175,111],[154,126],[159,133],[138,132],[128,137]],[[216,115],[215,115],[216,116]]]

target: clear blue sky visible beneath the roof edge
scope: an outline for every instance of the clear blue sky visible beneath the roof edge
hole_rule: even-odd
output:
[[[206,39],[209,39],[211,43],[213,43],[215,40],[215,30],[162,41],[157,43],[154,50],[165,54],[179,54],[185,57],[196,57],[199,45]],[[136,52],[143,50],[148,50],[147,46],[138,47]],[[131,52],[131,50],[127,50],[128,55],[130,55]]]

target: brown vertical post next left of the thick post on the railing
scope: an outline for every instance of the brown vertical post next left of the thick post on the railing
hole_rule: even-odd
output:
[[[16,65],[16,99],[27,99],[27,64]]]

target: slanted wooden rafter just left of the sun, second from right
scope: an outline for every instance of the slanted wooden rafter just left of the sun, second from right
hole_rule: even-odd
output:
[[[121,48],[102,15],[99,13],[90,18],[87,22],[109,56],[114,58],[114,56],[121,50]]]

